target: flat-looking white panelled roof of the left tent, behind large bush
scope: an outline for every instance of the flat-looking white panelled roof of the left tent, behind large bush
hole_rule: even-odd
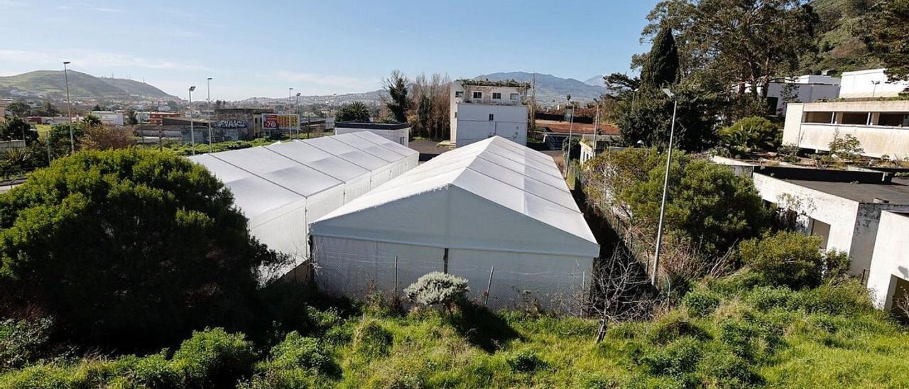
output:
[[[260,216],[295,209],[298,202],[404,160],[405,151],[367,132],[194,155],[234,194],[255,224]],[[404,146],[401,146],[404,147]],[[413,151],[413,153],[417,153]],[[375,155],[384,155],[385,159]]]

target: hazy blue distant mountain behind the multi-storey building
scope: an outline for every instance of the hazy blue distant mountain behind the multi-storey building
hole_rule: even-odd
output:
[[[534,74],[526,72],[491,73],[477,75],[475,79],[516,80],[530,82]],[[552,105],[567,101],[566,95],[571,95],[572,101],[591,102],[599,98],[606,91],[605,87],[587,85],[574,78],[562,78],[554,75],[536,74],[536,101],[541,105]]]

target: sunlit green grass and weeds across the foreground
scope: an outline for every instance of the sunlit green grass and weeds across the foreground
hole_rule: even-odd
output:
[[[861,285],[791,291],[729,279],[699,290],[720,303],[688,299],[654,320],[611,325],[600,344],[598,323],[576,317],[474,307],[449,315],[366,306],[346,318],[313,310],[309,316],[321,324],[271,351],[261,344],[255,373],[238,380],[244,387],[349,388],[909,386],[909,334],[874,310]],[[232,360],[246,347],[238,339],[215,343],[237,344],[225,352]],[[0,387],[130,387],[136,376],[193,376],[180,361],[165,352],[39,364],[0,376]]]

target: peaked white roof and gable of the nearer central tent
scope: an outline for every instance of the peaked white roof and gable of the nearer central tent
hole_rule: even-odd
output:
[[[476,224],[493,230],[478,234]],[[316,221],[312,234],[578,256],[599,249],[553,159],[498,136],[376,187]]]

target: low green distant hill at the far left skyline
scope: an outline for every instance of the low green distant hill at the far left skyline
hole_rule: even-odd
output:
[[[179,100],[161,89],[124,78],[105,78],[69,71],[69,93],[73,98],[101,100],[139,100],[144,98]],[[32,96],[62,99],[66,84],[62,70],[37,70],[22,75],[0,77],[0,96]]]

